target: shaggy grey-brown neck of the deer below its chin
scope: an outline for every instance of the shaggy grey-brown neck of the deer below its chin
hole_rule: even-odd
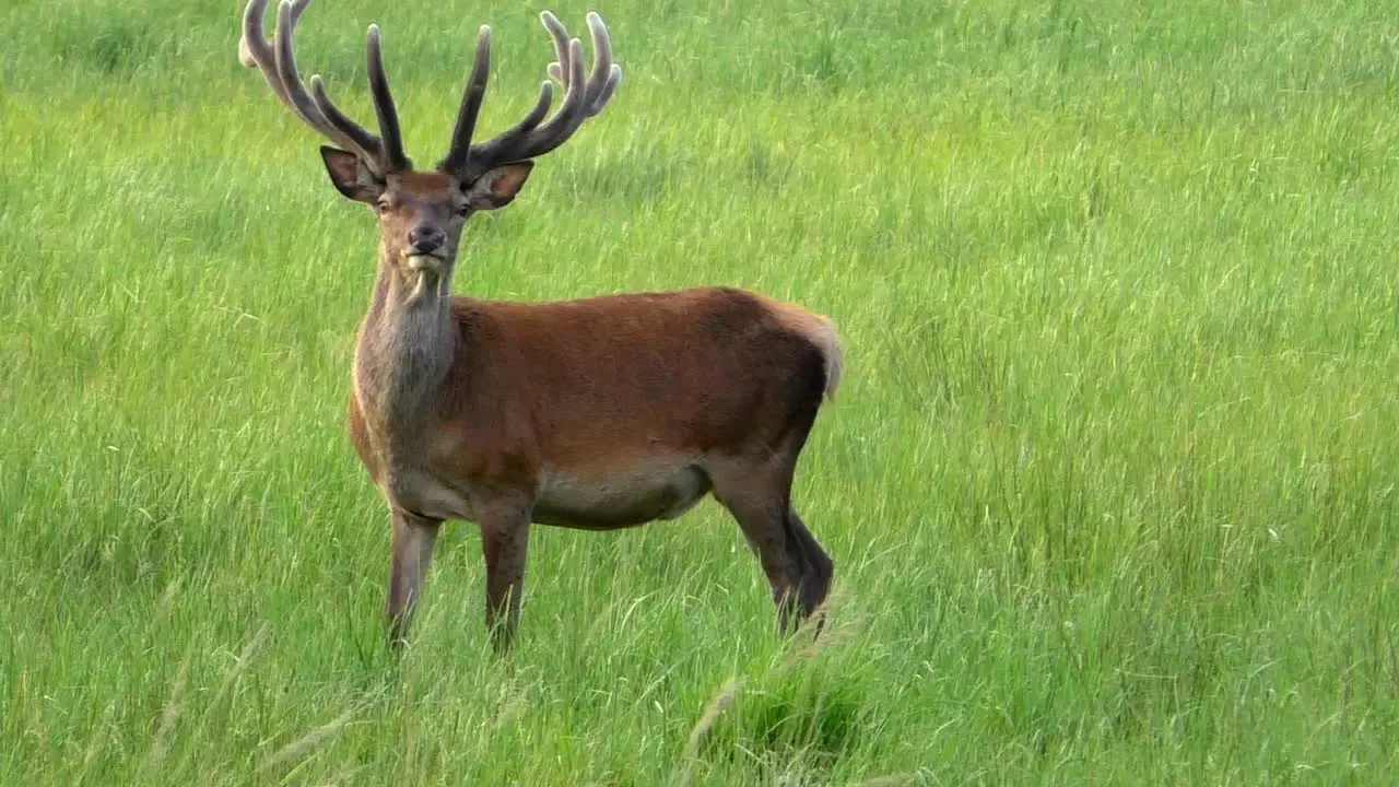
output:
[[[450,269],[403,273],[381,259],[355,347],[354,385],[364,415],[390,437],[410,437],[434,410],[452,368],[456,336]]]

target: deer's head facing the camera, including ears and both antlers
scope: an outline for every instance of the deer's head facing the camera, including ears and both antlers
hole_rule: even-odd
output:
[[[379,134],[350,119],[326,94],[319,74],[311,88],[301,80],[292,34],[311,0],[281,0],[273,41],[263,38],[267,0],[249,0],[243,11],[239,59],[257,67],[273,92],[332,146],[320,148],[330,182],[348,199],[371,206],[379,217],[381,253],[386,265],[404,276],[449,277],[466,220],[480,210],[495,210],[515,199],[529,178],[533,158],[564,144],[583,120],[602,112],[621,67],[611,60],[607,27],[588,14],[595,62],[583,73],[583,45],[548,11],[540,14],[554,39],[557,60],[548,74],[564,87],[560,111],[546,120],[554,85],[546,80],[539,101],[525,118],[495,139],[471,143],[476,119],[485,97],[491,66],[491,29],[481,25],[471,66],[452,132],[448,154],[431,171],[420,171],[403,151],[399,115],[389,92],[379,46],[379,28],[369,25],[369,90]]]

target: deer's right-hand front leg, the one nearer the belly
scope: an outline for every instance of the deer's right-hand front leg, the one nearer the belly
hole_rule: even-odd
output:
[[[499,501],[480,520],[485,555],[485,626],[497,653],[508,653],[520,618],[530,506]]]

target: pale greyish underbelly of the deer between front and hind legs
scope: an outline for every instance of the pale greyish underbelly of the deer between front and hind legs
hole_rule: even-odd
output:
[[[709,493],[709,476],[686,462],[631,472],[547,471],[534,521],[582,529],[614,529],[673,520]]]

